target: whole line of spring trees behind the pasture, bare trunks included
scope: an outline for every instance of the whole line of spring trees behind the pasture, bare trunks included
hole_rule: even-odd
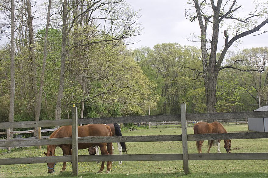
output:
[[[196,15],[185,10],[186,18],[199,21],[201,48],[163,43],[132,50],[128,44],[141,33],[140,14],[123,0],[49,0],[38,5],[46,10],[38,16],[30,0],[2,0],[1,35],[10,43],[0,49],[0,122],[69,119],[73,104],[81,118],[147,115],[149,110],[173,114],[181,102],[189,113],[265,105],[267,47],[228,51],[245,34],[241,27],[231,41],[224,30],[227,47],[219,52],[215,33],[224,18],[241,22],[231,15],[239,6],[235,0],[228,10],[228,3],[218,1],[217,8],[211,3],[193,0]],[[35,26],[37,20],[44,24]],[[208,23],[215,29],[211,39]],[[256,24],[253,31],[249,25],[244,29],[258,31]]]

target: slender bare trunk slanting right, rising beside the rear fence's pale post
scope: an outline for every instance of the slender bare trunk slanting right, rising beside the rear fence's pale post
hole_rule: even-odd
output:
[[[44,57],[43,57],[43,64],[42,64],[42,72],[40,77],[40,88],[39,93],[37,96],[37,104],[36,104],[36,111],[35,111],[35,121],[39,121],[40,118],[40,112],[41,112],[41,100],[42,100],[42,92],[43,92],[43,86],[44,86],[44,76],[45,76],[45,67],[46,67],[46,61],[47,61],[47,39],[48,39],[48,28],[49,28],[49,21],[50,21],[50,8],[51,8],[51,0],[48,2],[48,16],[47,16],[47,24],[46,24],[46,32],[44,36]],[[37,127],[35,128],[37,129]]]

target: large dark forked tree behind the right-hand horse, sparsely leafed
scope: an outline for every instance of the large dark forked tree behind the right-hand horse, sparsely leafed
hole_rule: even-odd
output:
[[[202,74],[204,78],[207,112],[214,113],[216,112],[216,82],[219,72],[222,69],[234,68],[232,65],[223,66],[226,52],[238,39],[246,35],[251,35],[254,32],[263,33],[260,29],[268,23],[268,18],[263,16],[266,14],[266,11],[260,8],[260,3],[256,5],[254,12],[249,13],[245,18],[236,17],[238,10],[242,7],[237,5],[236,0],[217,0],[217,4],[215,4],[214,0],[203,0],[202,2],[192,0],[189,1],[189,4],[192,5],[192,8],[185,10],[185,17],[191,22],[196,19],[199,22],[203,62],[203,71],[200,72],[200,74]],[[189,13],[189,11],[192,10],[195,12]],[[259,23],[259,18],[265,19],[263,22]],[[231,22],[227,23],[227,21]],[[224,26],[226,29],[220,31],[220,28],[223,27],[223,23],[227,23],[227,25]],[[208,37],[208,27],[210,24],[212,36]],[[233,34],[229,40],[231,32],[233,32]],[[225,43],[222,51],[217,55],[220,33],[224,35]],[[234,63],[236,62],[238,61]],[[210,120],[209,122],[212,121],[213,120]]]

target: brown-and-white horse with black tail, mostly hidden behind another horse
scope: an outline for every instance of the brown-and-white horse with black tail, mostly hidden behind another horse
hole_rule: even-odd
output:
[[[106,126],[109,126],[111,128],[112,136],[122,136],[120,126],[117,123],[106,124]],[[120,155],[122,154],[122,151],[123,151],[124,154],[127,154],[127,149],[126,149],[125,142],[121,142],[121,143],[118,142],[117,145],[118,145],[118,151],[119,151]],[[95,155],[95,154],[99,155],[98,146],[89,147],[88,148],[88,153],[90,155]],[[113,153],[114,153],[114,147],[113,147]],[[99,163],[99,162],[97,161],[97,163]],[[122,164],[122,161],[119,161],[119,164]]]

